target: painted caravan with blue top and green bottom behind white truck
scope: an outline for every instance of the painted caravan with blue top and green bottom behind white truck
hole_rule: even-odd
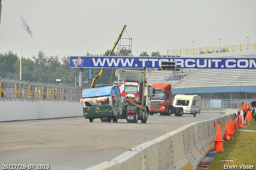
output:
[[[117,122],[122,115],[122,100],[118,86],[88,88],[82,91],[84,118],[93,122],[101,118],[101,122]]]

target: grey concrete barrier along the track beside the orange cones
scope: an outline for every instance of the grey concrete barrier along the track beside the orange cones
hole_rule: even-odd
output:
[[[224,134],[231,118],[234,114],[182,126],[86,170],[195,170],[214,149],[219,120]]]

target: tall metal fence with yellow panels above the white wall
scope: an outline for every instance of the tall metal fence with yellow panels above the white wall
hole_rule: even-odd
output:
[[[84,87],[0,78],[0,102],[80,102]]]

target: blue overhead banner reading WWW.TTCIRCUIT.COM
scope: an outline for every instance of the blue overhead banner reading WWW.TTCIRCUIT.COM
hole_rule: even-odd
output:
[[[256,69],[255,58],[181,58],[70,56],[73,68],[161,68],[162,62],[176,62],[176,68]]]

